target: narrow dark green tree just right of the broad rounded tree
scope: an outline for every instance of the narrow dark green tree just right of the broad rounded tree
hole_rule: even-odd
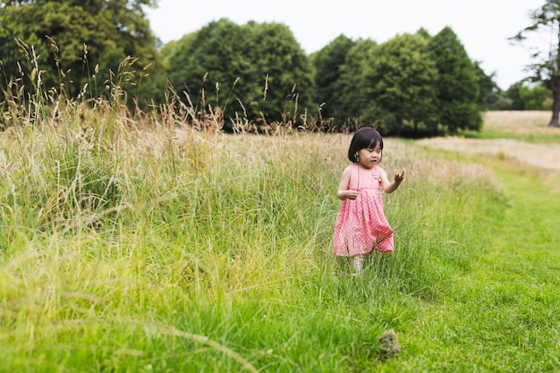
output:
[[[355,45],[350,38],[340,35],[311,56],[314,67],[315,101],[322,105],[321,114],[325,119],[339,121],[341,92],[339,89],[342,67],[348,51]]]

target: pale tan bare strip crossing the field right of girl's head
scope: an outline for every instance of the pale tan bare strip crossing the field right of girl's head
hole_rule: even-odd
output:
[[[419,140],[417,145],[469,154],[483,154],[488,157],[513,158],[523,164],[560,171],[560,144],[542,145],[509,139],[477,140],[440,137]]]

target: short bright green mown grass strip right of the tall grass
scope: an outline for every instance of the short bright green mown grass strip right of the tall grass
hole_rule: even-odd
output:
[[[533,175],[496,176],[505,199],[466,225],[482,242],[471,269],[412,325],[407,360],[424,371],[560,371],[560,195]]]

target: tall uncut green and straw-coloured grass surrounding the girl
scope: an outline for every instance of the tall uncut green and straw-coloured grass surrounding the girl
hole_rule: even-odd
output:
[[[331,250],[350,135],[226,135],[173,99],[116,98],[4,112],[2,371],[390,366],[377,336],[470,270],[472,207],[501,197],[487,167],[386,139],[387,172],[408,171],[384,197],[395,252],[350,276]]]

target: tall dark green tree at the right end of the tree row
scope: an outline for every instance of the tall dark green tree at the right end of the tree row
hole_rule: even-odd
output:
[[[449,27],[429,38],[428,49],[437,69],[439,123],[452,133],[460,129],[479,131],[479,80],[461,42]]]

